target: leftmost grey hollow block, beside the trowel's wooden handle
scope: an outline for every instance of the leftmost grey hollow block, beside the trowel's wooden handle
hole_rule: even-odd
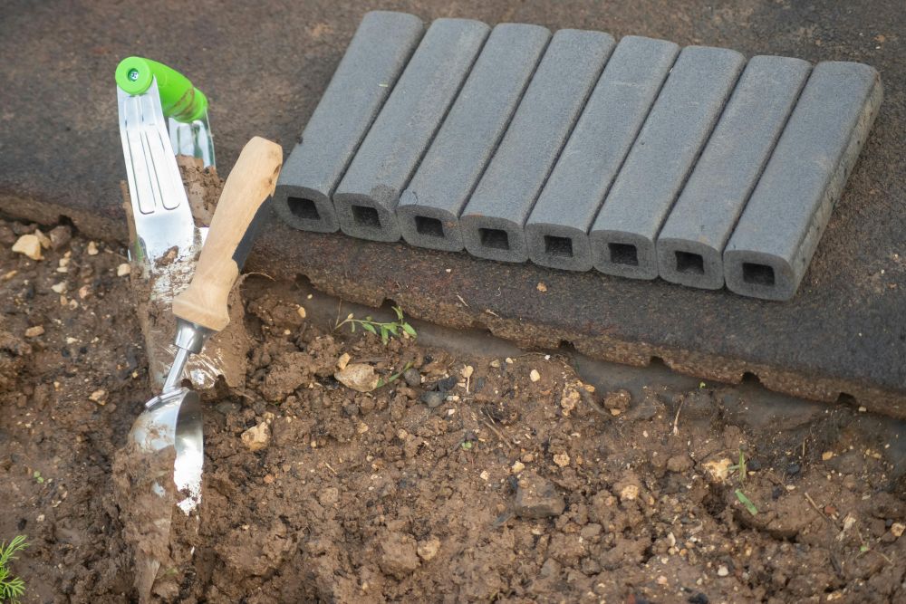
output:
[[[321,102],[277,179],[274,209],[288,225],[333,233],[333,191],[409,62],[425,26],[412,14],[361,20]]]

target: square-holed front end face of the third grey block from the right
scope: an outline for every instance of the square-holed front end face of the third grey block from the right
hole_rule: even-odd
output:
[[[589,235],[592,264],[605,274],[631,279],[655,279],[658,257],[651,239],[624,231],[597,230]]]

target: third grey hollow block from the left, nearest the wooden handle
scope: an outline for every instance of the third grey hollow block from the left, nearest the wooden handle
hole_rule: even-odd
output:
[[[499,24],[487,38],[397,206],[403,238],[449,252],[463,249],[459,214],[503,137],[550,40],[544,27]]]

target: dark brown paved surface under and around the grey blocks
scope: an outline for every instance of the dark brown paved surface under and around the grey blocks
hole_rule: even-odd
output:
[[[866,407],[906,417],[902,3],[717,4],[5,2],[0,209],[42,220],[70,216],[90,235],[124,235],[112,74],[133,53],[177,66],[207,92],[222,171],[255,134],[279,140],[288,152],[361,14],[373,7],[426,20],[522,21],[713,44],[747,55],[867,62],[882,73],[881,115],[790,303],[495,264],[280,225],[259,242],[253,265],[284,276],[304,273],[323,289],[363,302],[393,299],[434,321],[484,324],[545,345],[570,341],[613,360],[643,364],[657,356],[712,379],[737,380],[749,371],[769,388],[823,399],[845,392]],[[547,292],[536,289],[538,282]]]

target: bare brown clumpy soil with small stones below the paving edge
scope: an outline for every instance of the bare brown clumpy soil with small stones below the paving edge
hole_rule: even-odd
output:
[[[24,602],[136,601],[111,468],[152,391],[125,251],[73,234],[12,253],[35,228],[0,221],[0,540],[28,535]],[[152,600],[906,600],[900,425],[384,345],[264,276],[242,297],[245,383],[203,393],[200,522],[173,516],[194,553]],[[338,361],[389,383],[347,388]]]

